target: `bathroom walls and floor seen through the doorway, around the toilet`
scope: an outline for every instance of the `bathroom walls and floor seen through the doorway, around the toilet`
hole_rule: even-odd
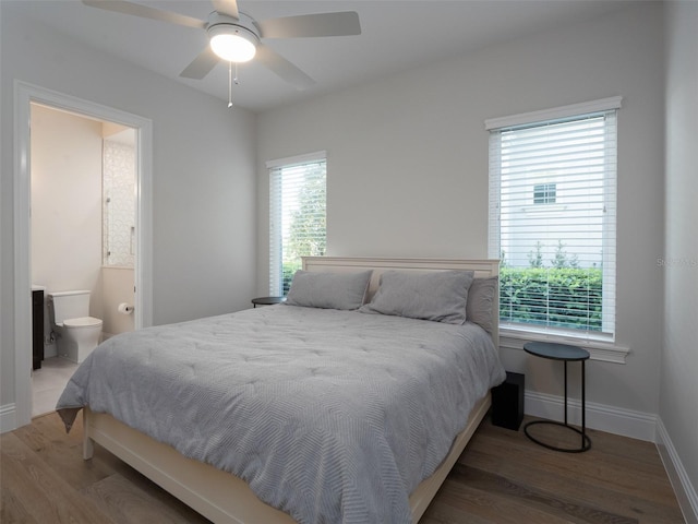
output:
[[[32,288],[44,291],[44,358],[37,368],[35,353],[32,378],[37,416],[53,410],[88,353],[69,350],[64,327],[52,322],[51,293],[89,291],[86,315],[101,321],[92,329],[99,342],[134,329],[135,130],[39,104],[31,121]]]

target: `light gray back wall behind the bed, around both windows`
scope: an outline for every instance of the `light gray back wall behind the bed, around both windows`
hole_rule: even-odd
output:
[[[588,364],[587,400],[657,414],[662,21],[661,4],[652,2],[261,115],[257,291],[266,290],[268,274],[266,160],[327,151],[328,254],[486,258],[484,120],[622,95],[617,342],[631,353],[625,365]],[[520,349],[502,356],[508,369],[526,373],[530,391],[562,394],[554,362]],[[573,394],[577,385],[570,383]]]

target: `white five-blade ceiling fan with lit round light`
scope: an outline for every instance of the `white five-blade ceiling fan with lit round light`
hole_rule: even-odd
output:
[[[238,11],[237,0],[212,0],[215,11],[209,14],[208,20],[203,21],[124,0],[83,0],[83,3],[117,13],[204,29],[210,46],[206,46],[180,73],[180,76],[195,80],[206,76],[220,60],[238,63],[255,58],[286,82],[304,90],[315,81],[262,44],[262,39],[361,34],[359,15],[353,11],[256,21]]]

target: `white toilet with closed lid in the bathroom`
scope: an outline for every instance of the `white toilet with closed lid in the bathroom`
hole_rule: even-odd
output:
[[[89,317],[89,291],[49,293],[48,305],[58,354],[82,362],[97,347],[101,334],[101,320]]]

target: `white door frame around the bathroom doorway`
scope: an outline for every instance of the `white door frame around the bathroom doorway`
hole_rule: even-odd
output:
[[[153,121],[71,95],[14,82],[14,383],[15,427],[32,421],[31,105],[41,104],[135,129],[135,329],[153,324]]]

